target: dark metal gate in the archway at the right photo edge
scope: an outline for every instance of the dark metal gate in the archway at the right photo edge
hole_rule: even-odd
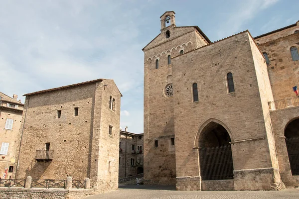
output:
[[[286,145],[293,176],[299,176],[299,137],[286,138]]]

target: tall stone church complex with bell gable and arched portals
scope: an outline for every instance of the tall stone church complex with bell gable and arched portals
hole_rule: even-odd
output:
[[[197,26],[177,27],[174,14],[143,49],[145,183],[299,186],[299,22],[211,42]]]

